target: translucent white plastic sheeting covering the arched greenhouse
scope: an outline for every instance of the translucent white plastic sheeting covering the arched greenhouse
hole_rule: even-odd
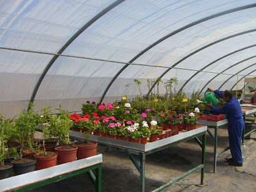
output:
[[[144,95],[158,77],[178,78],[188,96],[241,89],[256,75],[255,36],[255,0],[3,0],[0,109],[79,111],[140,95],[125,87],[134,78]]]

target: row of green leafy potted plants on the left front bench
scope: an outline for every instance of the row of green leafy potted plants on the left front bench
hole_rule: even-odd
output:
[[[57,161],[58,164],[62,164],[83,158],[83,156],[77,157],[78,144],[70,145],[72,141],[70,141],[69,133],[73,124],[70,114],[65,110],[58,110],[60,110],[59,114],[53,114],[50,107],[35,112],[33,106],[30,105],[29,110],[21,112],[17,119],[6,119],[0,114],[0,179],[9,177],[11,168],[14,169],[14,175],[18,175],[35,171],[35,167],[43,169],[55,166]],[[42,132],[40,141],[34,138],[36,131]],[[47,151],[46,146],[53,138],[56,140],[55,147]],[[11,148],[10,142],[16,142],[18,146]],[[67,159],[67,155],[63,154],[64,149],[74,151],[72,159]],[[94,151],[96,154],[96,149]],[[6,160],[9,157],[12,160],[8,164]],[[46,157],[50,157],[51,165],[40,166],[40,162],[44,162]],[[65,159],[61,160],[61,157]],[[23,163],[31,168],[27,171],[19,169]],[[7,169],[8,174],[6,174]],[[2,170],[3,176],[1,176]]]

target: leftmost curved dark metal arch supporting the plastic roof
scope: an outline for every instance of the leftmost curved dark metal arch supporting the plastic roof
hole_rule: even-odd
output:
[[[92,19],[90,19],[90,21],[88,21],[85,25],[82,26],[82,28],[80,28],[77,33],[75,33],[68,41],[67,43],[65,43],[65,45],[63,45],[60,50],[58,51],[58,54],[63,53],[63,51],[65,51],[65,49],[70,45],[70,43],[72,43],[83,31],[85,31],[85,29],[87,29],[91,24],[93,24],[95,21],[97,21],[97,19],[101,18],[105,13],[109,12],[111,9],[115,8],[116,6],[118,6],[120,3],[124,2],[125,0],[117,0],[114,3],[110,4],[107,8],[105,8],[104,10],[102,10],[100,13],[98,13],[96,16],[94,16]],[[43,81],[43,78],[45,78],[46,73],[48,72],[48,70],[50,69],[51,65],[53,65],[53,63],[56,61],[56,59],[59,57],[59,55],[55,55],[53,56],[53,58],[51,59],[51,61],[48,63],[48,65],[46,66],[45,70],[43,71],[43,73],[41,74],[41,77],[39,78],[38,82],[36,83],[36,87],[33,91],[33,94],[31,95],[31,99],[30,102],[31,104],[33,104],[35,97],[36,97],[36,93],[38,92],[38,88],[41,85],[41,82]],[[29,107],[28,107],[29,109]]]

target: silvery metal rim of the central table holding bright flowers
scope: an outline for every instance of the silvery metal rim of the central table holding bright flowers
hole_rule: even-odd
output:
[[[94,135],[90,135],[90,141],[96,141],[102,144],[109,144],[112,146],[123,147],[125,149],[134,149],[136,151],[146,152],[146,151],[151,151],[152,149],[156,149],[157,147],[165,146],[167,144],[171,144],[206,131],[207,131],[207,126],[196,125],[196,129],[194,130],[180,131],[179,134],[175,136],[167,137],[165,139],[157,140],[154,142],[147,142],[147,144],[138,144],[135,142],[121,141],[119,139],[110,139],[107,137],[94,136]],[[78,139],[84,138],[83,133],[77,132],[77,131],[72,131],[70,133],[70,136]]]

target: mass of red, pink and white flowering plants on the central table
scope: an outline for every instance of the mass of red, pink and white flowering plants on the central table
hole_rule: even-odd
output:
[[[166,125],[195,125],[196,120],[200,117],[200,110],[195,108],[194,112],[184,112],[183,114],[166,110],[156,114],[154,117],[156,120],[152,120],[151,109],[146,109],[140,114],[129,103],[105,105],[87,102],[87,104],[83,104],[82,112],[85,114],[83,117],[76,113],[70,115],[70,119],[73,120],[73,128],[82,131],[87,127],[90,132],[94,132],[98,136],[114,139],[130,137],[131,141],[159,135]]]

